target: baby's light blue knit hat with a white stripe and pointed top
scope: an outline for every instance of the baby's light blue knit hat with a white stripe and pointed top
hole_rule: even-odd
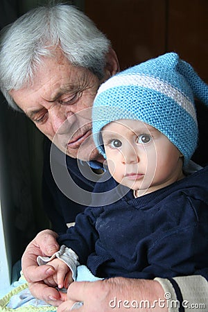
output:
[[[198,143],[194,96],[208,105],[208,85],[177,53],[166,53],[121,71],[101,85],[94,100],[96,147],[105,157],[101,140],[104,125],[136,119],[166,135],[187,164]]]

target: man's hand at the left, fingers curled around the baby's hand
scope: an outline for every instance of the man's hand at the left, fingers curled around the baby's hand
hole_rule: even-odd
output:
[[[36,259],[37,256],[51,257],[59,250],[57,236],[58,234],[50,229],[40,232],[28,244],[21,259],[22,271],[32,295],[53,306],[60,305],[63,302],[62,297],[55,288],[44,284],[43,280],[53,275],[55,270],[49,265],[38,266]]]

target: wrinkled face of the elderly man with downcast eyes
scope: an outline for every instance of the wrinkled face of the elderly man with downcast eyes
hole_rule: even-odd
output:
[[[67,155],[99,157],[92,139],[92,104],[101,81],[88,69],[73,67],[60,53],[45,58],[33,85],[12,90],[15,103],[37,128]]]

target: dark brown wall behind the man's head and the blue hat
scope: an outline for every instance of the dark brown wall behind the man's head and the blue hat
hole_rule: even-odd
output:
[[[208,83],[207,0],[85,0],[85,12],[112,41],[121,69],[175,51]]]

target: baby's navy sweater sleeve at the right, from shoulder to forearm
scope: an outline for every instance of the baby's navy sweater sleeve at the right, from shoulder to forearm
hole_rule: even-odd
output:
[[[195,198],[188,198],[184,205],[184,218],[189,214],[189,222],[182,220],[164,236],[155,239],[148,251],[149,266],[144,272],[153,274],[153,277],[193,274],[207,277],[208,254],[205,250],[208,250],[208,207],[205,202]]]

